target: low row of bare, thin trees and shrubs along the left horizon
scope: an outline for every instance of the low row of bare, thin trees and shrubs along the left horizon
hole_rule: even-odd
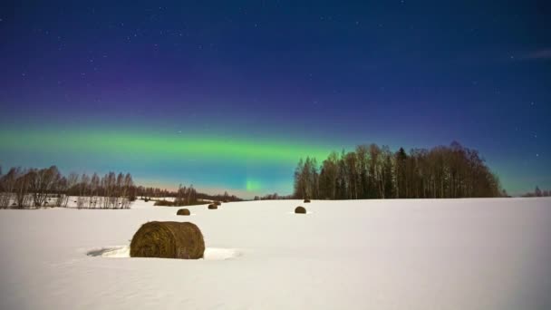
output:
[[[14,167],[5,174],[0,167],[0,208],[43,208],[69,205],[75,208],[130,208],[137,198],[144,200],[173,197],[179,205],[198,203],[198,199],[240,200],[227,192],[224,195],[198,193],[193,186],[170,191],[136,186],[130,173],[110,171],[70,173],[63,176],[56,166],[44,169]],[[70,201],[70,199],[74,199]]]

